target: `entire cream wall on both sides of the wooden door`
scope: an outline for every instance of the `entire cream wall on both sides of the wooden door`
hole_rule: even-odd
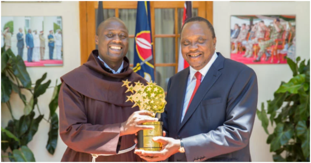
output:
[[[48,4],[48,5],[47,5]],[[41,13],[41,14],[39,14]],[[295,14],[297,16],[297,54],[302,58],[310,58],[310,1],[296,2],[230,2],[214,1],[214,27],[217,36],[217,52],[230,57],[230,16],[231,15],[271,15]],[[65,73],[80,66],[80,25],[79,2],[63,1],[61,3],[1,3],[1,16],[62,16],[64,66],[27,68],[31,79],[35,82],[48,72],[48,78],[55,85],[55,80]],[[273,98],[273,92],[281,81],[291,77],[287,65],[249,65],[258,75],[259,104]],[[48,104],[53,90],[49,90],[39,98],[39,106],[46,118],[49,115]],[[29,97],[29,96],[28,96]],[[14,100],[16,99],[16,100]],[[18,97],[13,97],[16,102]],[[258,104],[258,106],[259,106]],[[12,104],[15,116],[22,115],[22,103]],[[9,113],[1,106],[1,126],[6,126]],[[38,115],[36,111],[36,115]],[[29,143],[37,162],[60,162],[66,145],[59,138],[54,156],[49,155],[45,146],[48,140],[49,125],[42,122],[33,141]],[[270,130],[271,131],[271,130]],[[272,154],[266,145],[267,135],[256,118],[250,146],[253,162],[272,162]],[[6,161],[7,162],[7,161]]]

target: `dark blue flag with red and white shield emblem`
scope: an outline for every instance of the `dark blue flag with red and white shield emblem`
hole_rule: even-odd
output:
[[[148,82],[154,81],[151,34],[150,1],[138,1],[133,70]]]

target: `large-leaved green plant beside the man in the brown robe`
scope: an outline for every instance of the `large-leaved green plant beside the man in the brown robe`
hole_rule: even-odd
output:
[[[30,76],[26,71],[22,58],[20,56],[16,57],[11,49],[5,51],[4,48],[1,48],[1,105],[6,104],[12,116],[12,120],[8,122],[7,127],[1,127],[1,150],[8,154],[8,156],[1,156],[1,158],[7,157],[11,162],[35,162],[35,157],[27,144],[33,139],[42,120],[50,124],[46,149],[50,154],[54,154],[58,140],[58,115],[55,111],[58,107],[60,85],[49,87],[51,80],[43,83],[46,77],[47,74],[45,73],[35,84],[31,84]],[[54,92],[52,101],[49,103],[49,119],[45,119],[39,109],[38,97],[43,95],[49,88],[54,88]],[[32,97],[29,102],[26,101],[26,96],[22,90],[31,93]],[[10,97],[13,92],[18,94],[25,106],[24,115],[19,119],[14,117],[14,110],[11,107]],[[38,109],[40,114],[36,118],[35,108]],[[12,152],[7,152],[8,148]]]

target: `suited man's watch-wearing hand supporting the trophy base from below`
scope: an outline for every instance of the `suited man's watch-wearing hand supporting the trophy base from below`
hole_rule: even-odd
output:
[[[158,162],[158,161],[165,161],[170,156],[179,152],[180,140],[165,137],[155,137],[153,138],[153,141],[163,144],[161,151],[151,152],[144,150],[135,150],[134,153],[148,162]]]

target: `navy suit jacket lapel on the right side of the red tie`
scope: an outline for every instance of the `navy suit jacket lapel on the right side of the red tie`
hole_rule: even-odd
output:
[[[207,92],[211,89],[211,87],[215,84],[215,82],[221,76],[221,72],[219,70],[223,68],[225,58],[220,53],[217,53],[217,54],[218,54],[218,58],[216,59],[214,64],[211,66],[210,70],[207,72],[200,87],[197,90],[197,93],[194,95],[193,100],[188,108],[188,111],[185,117],[183,118],[181,125],[178,128],[178,132],[183,128],[183,126],[187,123],[187,121],[190,119],[193,113],[197,110],[204,96],[207,94]]]

